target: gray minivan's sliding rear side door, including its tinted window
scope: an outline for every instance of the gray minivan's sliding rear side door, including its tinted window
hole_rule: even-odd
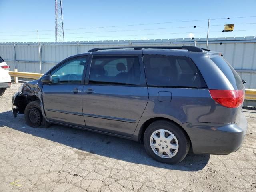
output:
[[[86,128],[132,136],[148,102],[141,55],[93,56],[82,95]]]

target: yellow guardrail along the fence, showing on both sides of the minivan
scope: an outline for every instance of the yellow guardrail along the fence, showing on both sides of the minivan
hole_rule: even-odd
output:
[[[22,78],[30,78],[30,79],[39,79],[44,74],[42,73],[27,73],[27,72],[18,72],[17,69],[15,71],[9,71],[10,76],[14,77],[14,82],[19,82],[19,77]],[[256,89],[246,89],[245,92],[246,100],[254,100],[256,101]]]

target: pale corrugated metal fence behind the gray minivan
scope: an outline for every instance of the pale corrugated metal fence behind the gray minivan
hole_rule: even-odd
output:
[[[119,41],[83,41],[83,42],[24,42],[0,43],[0,56],[21,72],[45,73],[52,66],[68,56],[84,53],[96,47],[129,45],[194,45],[206,48],[206,38],[192,39],[156,39],[156,40],[119,40]],[[220,51],[242,79],[246,88],[256,88],[256,37],[209,38],[208,49]],[[41,64],[39,59],[39,50]]]

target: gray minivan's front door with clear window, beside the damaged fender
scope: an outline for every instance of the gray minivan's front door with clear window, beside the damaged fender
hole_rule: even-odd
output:
[[[53,83],[42,89],[46,117],[53,122],[85,127],[82,90],[87,57],[72,58],[50,72]]]

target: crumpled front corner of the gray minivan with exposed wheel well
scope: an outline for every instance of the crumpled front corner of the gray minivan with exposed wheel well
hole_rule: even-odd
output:
[[[40,108],[42,115],[45,117],[42,106],[42,85],[38,83],[39,80],[34,80],[22,85],[22,88],[12,97],[12,112],[14,117],[18,113],[24,114],[27,104],[32,101],[40,101]]]

